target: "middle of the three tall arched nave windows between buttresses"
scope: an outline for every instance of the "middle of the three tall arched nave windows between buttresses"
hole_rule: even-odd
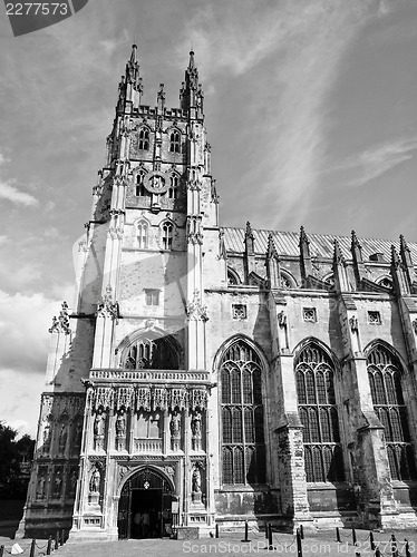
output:
[[[297,358],[295,381],[307,481],[343,481],[334,365],[317,344],[308,344]]]

